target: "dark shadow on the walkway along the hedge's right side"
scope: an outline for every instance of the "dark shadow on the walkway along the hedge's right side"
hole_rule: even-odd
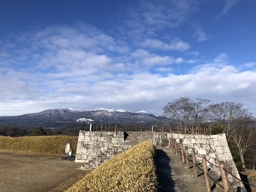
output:
[[[172,180],[170,157],[161,149],[156,149],[156,173],[159,182],[159,192],[175,192],[175,182]]]

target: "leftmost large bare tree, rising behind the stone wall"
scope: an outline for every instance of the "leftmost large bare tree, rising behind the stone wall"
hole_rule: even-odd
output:
[[[188,97],[180,97],[164,106],[164,115],[172,118],[183,132],[189,133],[191,125],[196,128],[205,123],[209,110],[208,99],[196,99],[196,102]]]

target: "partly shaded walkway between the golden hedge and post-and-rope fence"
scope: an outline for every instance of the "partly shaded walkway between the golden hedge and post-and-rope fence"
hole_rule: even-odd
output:
[[[159,191],[177,192],[204,192],[204,175],[195,177],[193,168],[187,170],[186,164],[167,147],[156,148],[157,177],[159,178]],[[199,172],[200,173],[200,172]]]

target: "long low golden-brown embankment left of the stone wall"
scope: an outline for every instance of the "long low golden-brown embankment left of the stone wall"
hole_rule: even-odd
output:
[[[77,140],[77,136],[26,136],[20,138],[0,136],[0,149],[62,156],[67,142],[70,142],[75,156]]]

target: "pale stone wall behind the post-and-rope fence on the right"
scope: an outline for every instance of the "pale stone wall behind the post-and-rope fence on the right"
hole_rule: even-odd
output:
[[[177,143],[182,140],[184,147],[190,149],[194,148],[196,161],[202,162],[202,154],[207,159],[207,166],[216,174],[220,175],[220,169],[217,167],[219,163],[224,163],[225,168],[232,175],[240,179],[239,173],[234,163],[231,152],[228,148],[228,143],[225,134],[216,135],[198,135],[198,134],[177,134],[177,133],[161,133],[155,132],[153,143],[156,146],[168,147],[170,139],[176,140]],[[191,154],[191,153],[190,153]],[[212,165],[213,164],[213,165]],[[214,166],[216,165],[216,166]],[[228,181],[236,186],[243,186],[239,180],[235,179],[231,175],[228,175]]]

